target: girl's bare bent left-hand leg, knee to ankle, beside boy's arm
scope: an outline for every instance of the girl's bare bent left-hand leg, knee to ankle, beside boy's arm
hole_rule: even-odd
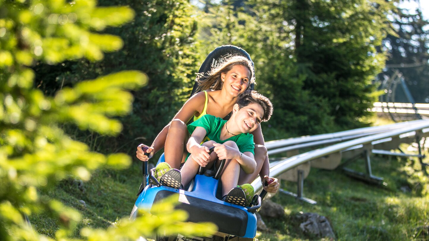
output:
[[[184,155],[184,143],[188,138],[186,124],[179,119],[172,120],[164,146],[165,162],[172,168],[180,169]]]

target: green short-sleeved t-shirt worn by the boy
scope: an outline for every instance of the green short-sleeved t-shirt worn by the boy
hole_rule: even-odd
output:
[[[253,135],[250,133],[241,133],[237,136],[233,136],[221,141],[221,130],[226,122],[227,121],[223,120],[222,118],[215,117],[211,114],[205,114],[198,120],[189,124],[187,126],[187,129],[189,133],[192,134],[196,127],[203,127],[207,134],[205,134],[205,138],[202,140],[202,142],[212,140],[217,143],[223,144],[226,141],[233,141],[237,144],[241,152],[250,151],[251,153],[255,154],[255,143],[253,142]]]

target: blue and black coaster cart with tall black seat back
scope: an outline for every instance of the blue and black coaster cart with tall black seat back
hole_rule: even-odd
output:
[[[207,72],[213,66],[221,61],[220,59],[227,55],[242,55],[249,60],[249,54],[242,48],[233,45],[224,45],[212,51],[202,66],[199,72]],[[252,62],[253,63],[253,62]],[[196,93],[197,86],[194,86],[191,96]],[[253,84],[249,88],[253,89]],[[210,151],[212,151],[211,148]],[[158,164],[164,162],[164,154],[158,160]],[[195,176],[193,182],[189,185],[187,190],[175,189],[172,187],[161,186],[154,178],[154,169],[148,170],[148,162],[143,162],[143,182],[140,186],[138,198],[131,212],[130,218],[135,218],[139,208],[151,210],[154,203],[163,202],[168,196],[177,193],[178,205],[176,209],[187,211],[189,217],[188,222],[212,222],[218,226],[218,232],[211,237],[181,237],[175,235],[174,237],[164,237],[162,234],[157,235],[157,241],[185,241],[185,240],[199,240],[199,241],[250,241],[256,235],[257,219],[255,212],[261,205],[261,197],[265,196],[265,191],[259,196],[255,195],[250,207],[242,207],[234,205],[229,202],[221,200],[221,193],[219,192],[219,181],[221,171],[223,169],[225,160],[221,161],[218,170],[205,170],[200,167],[199,172]]]

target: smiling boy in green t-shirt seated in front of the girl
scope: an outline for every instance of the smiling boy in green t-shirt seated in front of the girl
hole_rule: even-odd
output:
[[[233,114],[228,121],[206,114],[188,125],[191,136],[187,142],[190,153],[179,172],[169,170],[168,164],[157,166],[156,176],[161,176],[161,184],[170,187],[186,187],[195,177],[199,166],[210,167],[215,160],[226,160],[222,181],[222,200],[237,205],[249,205],[253,198],[253,187],[243,184],[237,187],[240,169],[246,174],[255,172],[253,135],[260,122],[268,121],[272,114],[272,103],[257,91],[246,91],[233,106]],[[201,143],[201,144],[200,144]],[[208,149],[214,146],[209,155]],[[162,164],[162,166],[161,166]]]

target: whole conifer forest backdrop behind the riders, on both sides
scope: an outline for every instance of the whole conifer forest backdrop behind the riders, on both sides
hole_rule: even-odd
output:
[[[419,10],[399,8],[402,2],[100,0],[100,6],[134,9],[133,21],[104,30],[120,36],[124,47],[99,62],[37,63],[35,84],[50,95],[100,75],[145,72],[148,85],[133,92],[133,111],[121,118],[118,137],[66,127],[94,151],[133,153],[186,101],[207,54],[232,44],[251,55],[255,89],[275,106],[263,124],[267,139],[367,126],[367,109],[388,81],[403,78],[416,102],[429,102],[428,21]]]

